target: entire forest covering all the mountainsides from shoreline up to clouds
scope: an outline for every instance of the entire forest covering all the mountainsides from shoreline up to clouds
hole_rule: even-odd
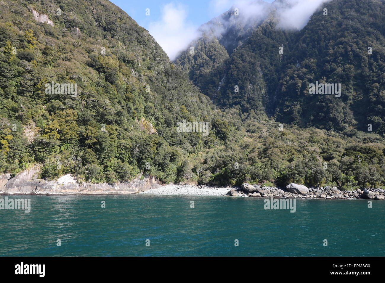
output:
[[[342,5],[347,2],[350,13]],[[165,183],[383,186],[385,146],[375,122],[381,124],[384,116],[372,101],[381,99],[384,85],[383,73],[374,75],[383,70],[383,3],[335,0],[327,5],[329,18],[313,16],[306,28],[319,28],[323,20],[324,25],[335,23],[336,34],[346,31],[354,42],[363,40],[333,18],[336,7],[339,17],[352,17],[352,30],[377,39],[370,45],[373,54],[368,57],[363,50],[362,55],[365,76],[377,84],[372,98],[364,93],[369,82],[357,79],[361,69],[352,53],[358,52],[354,42],[339,37],[341,47],[327,40],[319,46],[311,38],[334,33],[277,30],[273,14],[257,20],[252,32],[247,27],[231,35],[245,26],[226,25],[228,35],[199,40],[195,55],[184,54],[174,64],[144,28],[106,0],[0,1],[0,173],[42,164],[42,178],[72,174],[79,182],[94,183],[144,173]],[[354,5],[366,9],[360,18]],[[373,21],[372,33],[364,18]],[[278,57],[283,39],[284,54]],[[300,54],[294,43],[303,46]],[[258,53],[258,46],[265,52]],[[339,57],[318,69],[325,54]],[[352,93],[344,90],[340,102],[302,89],[318,76],[322,81],[351,75],[346,81],[352,82]],[[209,91],[219,85],[217,92]],[[323,111],[315,112],[315,103],[325,104]],[[378,117],[373,131],[357,131],[360,117],[354,115],[370,105],[377,108],[360,113]],[[338,107],[343,112],[335,115],[343,125],[330,117]],[[352,120],[345,122],[349,113]],[[209,131],[178,130],[178,123],[188,122],[208,123]],[[345,124],[344,132],[337,132]]]

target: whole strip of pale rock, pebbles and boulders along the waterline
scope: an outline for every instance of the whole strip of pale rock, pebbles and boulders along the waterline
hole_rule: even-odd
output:
[[[241,187],[208,187],[191,184],[169,184],[163,186],[152,176],[139,176],[131,182],[115,184],[78,183],[70,174],[53,181],[39,179],[40,166],[26,169],[15,177],[0,174],[0,194],[37,195],[85,195],[85,194],[153,194],[179,196],[237,196],[256,198],[302,198],[302,199],[385,199],[383,189],[357,189],[341,191],[336,187],[307,188],[300,184],[288,184],[285,188],[261,187],[242,184]]]

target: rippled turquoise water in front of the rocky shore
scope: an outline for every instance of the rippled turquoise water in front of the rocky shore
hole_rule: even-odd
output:
[[[385,201],[368,208],[365,200],[297,199],[290,213],[265,210],[258,198],[23,198],[31,199],[30,213],[0,210],[1,256],[385,255]]]

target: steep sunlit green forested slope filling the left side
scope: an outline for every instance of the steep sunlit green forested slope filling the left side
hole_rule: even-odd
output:
[[[212,131],[176,132],[177,122],[211,123],[220,113],[112,3],[0,5],[0,171],[42,162],[45,178],[113,182],[143,171],[175,181],[185,155],[219,142]],[[77,84],[77,95],[47,93],[52,81]]]

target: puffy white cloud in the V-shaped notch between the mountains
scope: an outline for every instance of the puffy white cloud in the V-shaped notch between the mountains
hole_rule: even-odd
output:
[[[150,22],[149,32],[171,60],[199,36],[197,27],[187,21],[187,8],[174,3],[164,5],[162,19]]]

